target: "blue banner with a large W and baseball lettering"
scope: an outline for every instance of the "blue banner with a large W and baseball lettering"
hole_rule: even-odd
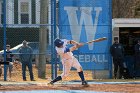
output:
[[[109,69],[110,8],[110,0],[59,0],[60,38],[87,42],[107,37],[73,52],[84,69]]]

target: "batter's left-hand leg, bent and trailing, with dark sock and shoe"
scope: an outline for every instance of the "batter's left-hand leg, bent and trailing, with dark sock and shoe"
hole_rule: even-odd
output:
[[[67,60],[67,62],[63,62],[63,73],[61,74],[61,76],[56,77],[54,80],[52,80],[48,84],[52,85],[55,82],[63,80],[64,78],[66,78],[68,76],[69,72],[70,72],[71,65],[72,65],[71,60]]]

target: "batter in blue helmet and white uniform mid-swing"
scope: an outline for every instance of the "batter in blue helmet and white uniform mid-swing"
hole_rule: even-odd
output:
[[[53,85],[55,82],[63,80],[66,78],[70,72],[71,67],[74,67],[77,69],[77,72],[79,74],[79,77],[81,78],[82,85],[88,86],[88,83],[85,81],[84,74],[82,67],[78,60],[73,56],[72,51],[76,50],[77,48],[83,46],[82,43],[78,43],[74,40],[66,40],[66,39],[55,39],[54,44],[56,46],[56,51],[58,55],[60,55],[62,64],[63,64],[63,73],[49,82],[48,84]],[[68,44],[73,44],[74,46],[68,48]]]

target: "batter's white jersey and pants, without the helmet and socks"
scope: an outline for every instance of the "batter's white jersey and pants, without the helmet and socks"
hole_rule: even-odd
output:
[[[56,47],[56,51],[58,55],[61,57],[62,65],[63,65],[63,73],[61,74],[62,79],[67,77],[71,67],[74,67],[77,69],[77,72],[80,72],[82,67],[78,60],[73,56],[73,53],[69,51],[69,48],[67,47],[68,41],[66,39],[61,39],[64,44],[62,48]]]

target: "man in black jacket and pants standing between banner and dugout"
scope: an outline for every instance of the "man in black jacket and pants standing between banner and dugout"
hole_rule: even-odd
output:
[[[110,53],[113,57],[114,78],[117,79],[117,72],[119,70],[119,79],[121,79],[123,76],[124,49],[123,46],[119,43],[118,37],[114,37],[114,44],[110,47]]]

